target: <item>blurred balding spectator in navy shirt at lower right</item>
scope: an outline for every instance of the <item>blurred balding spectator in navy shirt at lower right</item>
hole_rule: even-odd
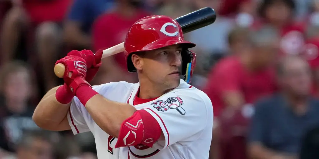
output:
[[[319,100],[310,95],[307,61],[288,56],[277,68],[278,93],[256,103],[248,152],[251,158],[297,159],[307,131],[319,126]]]

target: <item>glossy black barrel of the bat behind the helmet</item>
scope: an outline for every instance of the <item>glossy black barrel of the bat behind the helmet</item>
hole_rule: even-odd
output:
[[[188,33],[214,23],[216,12],[210,7],[205,7],[178,17],[175,20],[181,25],[183,33]]]

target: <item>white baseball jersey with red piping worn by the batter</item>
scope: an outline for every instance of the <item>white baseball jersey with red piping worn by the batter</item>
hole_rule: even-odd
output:
[[[77,97],[68,114],[74,134],[91,131],[99,159],[207,159],[211,146],[213,108],[208,96],[181,80],[174,90],[155,100],[134,105],[139,83],[110,82],[93,89],[105,98],[144,109],[159,123],[165,140],[115,149],[117,138],[108,135],[91,118]],[[110,112],[112,113],[112,112]]]

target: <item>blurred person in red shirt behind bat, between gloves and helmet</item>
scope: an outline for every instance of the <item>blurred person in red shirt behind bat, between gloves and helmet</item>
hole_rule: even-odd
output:
[[[130,26],[138,19],[151,15],[142,9],[140,0],[116,0],[114,10],[98,17],[93,24],[93,50],[107,49],[124,41]],[[102,59],[103,65],[95,82],[137,82],[137,76],[126,71],[124,53]],[[97,81],[98,80],[98,81]]]

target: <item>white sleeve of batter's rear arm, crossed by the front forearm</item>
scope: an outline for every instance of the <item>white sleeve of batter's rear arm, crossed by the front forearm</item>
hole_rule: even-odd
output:
[[[103,96],[109,96],[109,94],[112,94],[112,90],[116,85],[115,82],[110,82],[99,86],[93,86],[93,89]],[[90,114],[86,111],[77,97],[74,97],[71,101],[67,118],[74,135],[90,131],[90,126],[93,123]]]

